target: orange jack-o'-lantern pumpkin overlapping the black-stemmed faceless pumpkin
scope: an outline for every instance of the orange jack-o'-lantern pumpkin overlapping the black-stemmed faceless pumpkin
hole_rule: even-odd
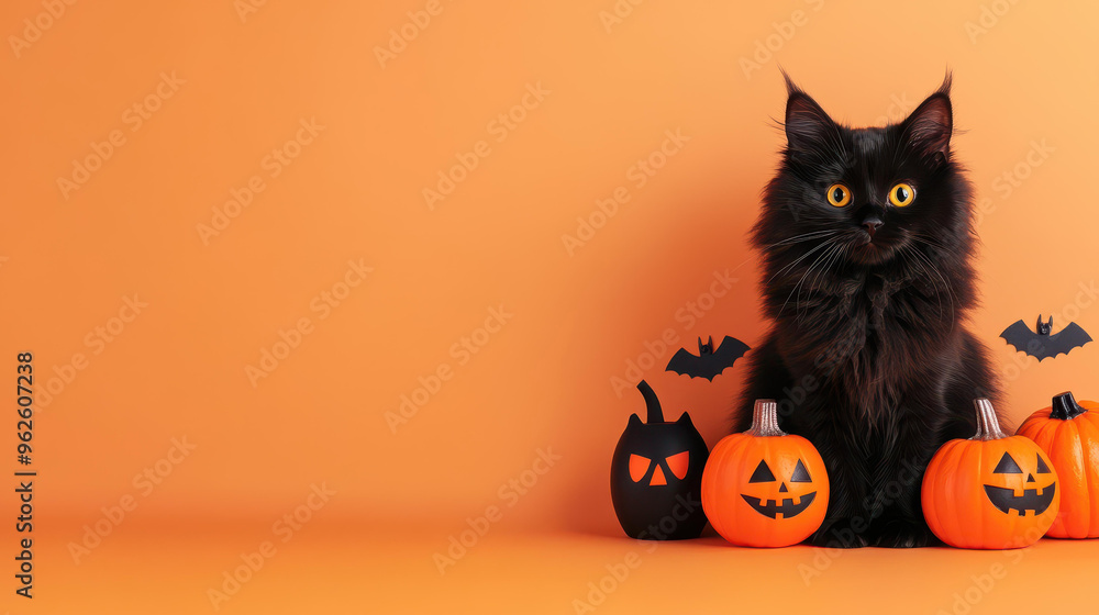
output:
[[[992,404],[974,401],[977,435],[951,440],[923,474],[923,517],[964,549],[1014,549],[1037,541],[1061,505],[1057,472],[1030,438],[1000,431]]]

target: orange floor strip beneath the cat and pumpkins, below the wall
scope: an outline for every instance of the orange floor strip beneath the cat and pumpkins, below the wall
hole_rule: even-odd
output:
[[[449,532],[318,518],[282,541],[254,523],[120,526],[79,563],[49,545],[34,608],[11,613],[1097,612],[1086,593],[1096,540],[1012,551],[746,549],[718,537],[644,543],[500,526],[466,536],[471,546],[451,558]],[[266,556],[264,541],[274,547]]]

